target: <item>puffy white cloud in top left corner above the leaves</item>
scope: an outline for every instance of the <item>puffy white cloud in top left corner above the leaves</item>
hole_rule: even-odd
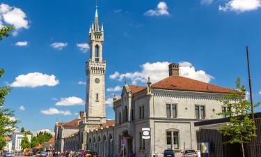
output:
[[[17,31],[19,29],[28,29],[29,22],[26,19],[26,14],[15,6],[9,6],[8,4],[1,3],[0,4],[0,27],[3,25],[13,25],[15,27],[15,31],[13,35],[17,35]]]

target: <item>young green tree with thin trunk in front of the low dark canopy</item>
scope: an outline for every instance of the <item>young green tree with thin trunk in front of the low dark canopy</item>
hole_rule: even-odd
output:
[[[226,112],[221,112],[219,115],[230,117],[230,122],[219,128],[219,133],[228,137],[226,143],[241,144],[242,155],[244,154],[244,144],[252,140],[256,135],[253,133],[255,124],[249,116],[251,112],[251,103],[245,99],[245,87],[240,86],[240,79],[237,78],[237,89],[226,95],[225,100],[221,100],[223,105],[228,107]],[[259,103],[255,104],[257,107]]]

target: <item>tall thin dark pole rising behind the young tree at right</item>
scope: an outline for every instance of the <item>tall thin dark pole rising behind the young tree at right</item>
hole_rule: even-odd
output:
[[[248,55],[248,45],[246,45],[246,57],[247,57],[247,67],[248,67],[248,82],[249,82],[249,92],[250,92],[250,101],[251,101],[251,116],[253,119],[253,123],[255,125],[255,114],[254,114],[254,107],[253,107],[253,97],[252,97],[252,87],[251,87],[251,76],[250,76],[250,66],[249,66],[249,55]],[[253,133],[255,134],[255,130]],[[256,156],[256,137],[253,137],[253,155]]]

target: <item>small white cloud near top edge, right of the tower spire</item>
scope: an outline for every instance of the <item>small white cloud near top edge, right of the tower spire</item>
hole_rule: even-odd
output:
[[[168,6],[164,1],[159,2],[155,10],[148,10],[144,15],[147,16],[162,16],[169,15]]]

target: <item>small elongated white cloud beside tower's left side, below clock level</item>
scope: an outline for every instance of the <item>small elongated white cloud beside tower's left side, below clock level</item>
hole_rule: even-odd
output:
[[[61,98],[60,101],[58,101],[55,105],[56,106],[84,105],[84,100],[76,96],[70,96],[68,98]]]

